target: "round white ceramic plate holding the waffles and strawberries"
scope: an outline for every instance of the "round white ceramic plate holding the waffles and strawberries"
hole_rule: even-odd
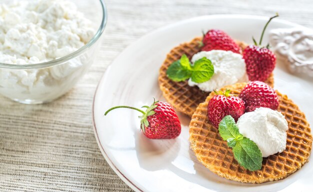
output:
[[[309,191],[313,188],[313,161],[287,178],[263,184],[227,180],[210,172],[189,149],[190,118],[178,114],[182,124],[176,139],[151,140],[139,129],[139,113],[116,109],[115,105],[140,107],[152,97],[164,100],[159,90],[158,70],[166,53],[181,42],[201,35],[201,30],[218,28],[235,39],[251,43],[258,38],[268,17],[252,15],[209,15],[180,21],[149,33],[127,47],[106,70],[94,97],[94,132],[99,148],[113,170],[135,191]],[[272,28],[298,26],[273,19]],[[263,39],[265,44],[267,35]],[[274,70],[275,88],[287,94],[313,122],[313,83],[289,74],[284,66]]]

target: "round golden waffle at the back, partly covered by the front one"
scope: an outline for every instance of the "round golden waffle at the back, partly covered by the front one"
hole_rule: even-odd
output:
[[[163,96],[172,104],[177,111],[187,114],[191,117],[195,108],[200,102],[203,102],[209,92],[200,90],[197,86],[189,86],[188,80],[175,82],[166,76],[168,66],[175,60],[180,59],[181,55],[186,54],[189,59],[192,55],[200,51],[199,42],[201,37],[196,37],[190,42],[182,43],[174,47],[167,54],[158,76],[158,82]],[[247,45],[244,42],[236,41],[243,50]],[[273,75],[271,74],[265,81],[271,87],[273,86]]]

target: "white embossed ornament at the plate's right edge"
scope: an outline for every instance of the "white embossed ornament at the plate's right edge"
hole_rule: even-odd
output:
[[[269,32],[273,50],[286,58],[292,73],[313,77],[313,30],[305,27],[277,28]]]

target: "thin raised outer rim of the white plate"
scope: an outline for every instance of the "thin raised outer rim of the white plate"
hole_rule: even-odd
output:
[[[179,21],[175,21],[175,22],[172,22],[172,23],[169,23],[169,24],[166,24],[166,25],[163,25],[161,27],[158,27],[154,30],[151,30],[149,32],[147,32],[146,34],[144,34],[143,36],[137,38],[134,42],[130,43],[129,45],[127,45],[112,61],[111,63],[108,65],[108,67],[105,69],[105,72],[101,75],[100,77],[100,80],[99,82],[97,83],[97,86],[96,86],[96,89],[94,91],[94,94],[93,94],[93,100],[92,100],[92,126],[93,126],[93,133],[94,133],[94,137],[96,139],[96,142],[97,142],[97,145],[98,145],[98,148],[100,149],[104,159],[106,160],[106,162],[109,164],[109,166],[113,169],[113,171],[118,175],[118,177],[124,181],[131,189],[133,189],[134,191],[138,192],[138,191],[143,191],[141,188],[139,188],[139,186],[137,186],[136,184],[134,184],[133,182],[131,182],[117,167],[116,165],[112,162],[112,160],[108,157],[108,155],[106,154],[101,142],[100,142],[100,139],[99,139],[99,136],[98,136],[98,133],[97,133],[97,128],[96,128],[96,124],[95,124],[95,120],[94,120],[94,104],[95,104],[95,97],[97,95],[97,92],[98,92],[98,88],[99,88],[99,85],[100,83],[102,82],[102,80],[105,78],[106,74],[108,73],[108,71],[110,70],[111,68],[111,64],[115,62],[115,60],[121,55],[123,54],[124,52],[128,51],[128,49],[130,49],[132,46],[134,46],[139,40],[142,40],[144,38],[147,38],[147,36],[150,36],[150,35],[153,35],[154,33],[157,33],[159,31],[162,31],[166,28],[169,28],[169,27],[173,27],[175,25],[179,25],[181,23],[184,23],[184,22],[191,22],[193,20],[198,20],[198,19],[204,19],[204,18],[246,18],[248,17],[249,19],[268,19],[268,16],[264,16],[264,15],[253,15],[253,14],[210,14],[210,15],[202,15],[202,16],[195,16],[195,17],[191,17],[191,18],[188,18],[188,19],[182,19],[182,20],[179,20]],[[284,19],[279,19],[277,18],[276,20],[278,20],[280,23],[284,23],[284,24],[288,24],[288,25],[293,25],[294,27],[304,27],[306,28],[305,26],[303,25],[300,25],[298,23],[295,23],[295,22],[291,22],[291,21],[288,21],[288,20],[284,20]]]

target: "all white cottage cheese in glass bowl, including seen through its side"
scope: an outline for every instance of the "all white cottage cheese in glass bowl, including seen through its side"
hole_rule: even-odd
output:
[[[55,60],[87,44],[95,31],[92,21],[71,1],[0,4],[0,63],[27,65]],[[0,67],[0,93],[25,103],[53,100],[82,76],[93,52],[44,68]]]

